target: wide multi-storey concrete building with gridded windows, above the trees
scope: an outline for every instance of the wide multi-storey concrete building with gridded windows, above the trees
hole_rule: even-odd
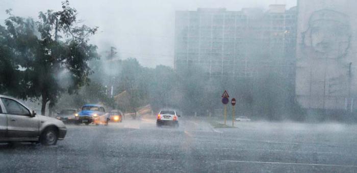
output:
[[[174,68],[199,68],[210,77],[259,77],[267,70],[294,81],[296,8],[268,11],[176,11]]]

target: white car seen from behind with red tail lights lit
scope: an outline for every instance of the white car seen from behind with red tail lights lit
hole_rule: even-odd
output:
[[[161,127],[162,125],[171,125],[174,127],[179,127],[179,117],[174,110],[161,110],[157,115],[156,126]]]

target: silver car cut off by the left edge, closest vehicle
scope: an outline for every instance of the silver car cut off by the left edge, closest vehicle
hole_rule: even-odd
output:
[[[15,98],[0,95],[0,142],[56,145],[66,132],[61,120],[37,115]]]

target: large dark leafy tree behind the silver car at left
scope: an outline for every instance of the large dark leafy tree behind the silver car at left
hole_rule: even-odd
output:
[[[39,19],[35,22],[10,14],[5,23],[23,73],[19,83],[24,89],[17,95],[41,97],[44,114],[46,104],[52,108],[61,93],[73,93],[89,83],[93,71],[87,62],[99,56],[97,47],[88,43],[97,28],[78,26],[77,10],[68,1],[62,3],[61,11],[40,12]]]

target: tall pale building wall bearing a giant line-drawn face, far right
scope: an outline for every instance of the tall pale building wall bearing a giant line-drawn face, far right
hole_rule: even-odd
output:
[[[303,108],[355,110],[356,5],[353,0],[298,1],[295,90]]]

